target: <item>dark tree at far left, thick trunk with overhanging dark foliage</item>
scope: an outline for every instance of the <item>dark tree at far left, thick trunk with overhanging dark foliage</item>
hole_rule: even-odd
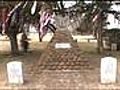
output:
[[[9,10],[7,15],[7,19],[5,20],[5,34],[9,37],[10,39],[10,44],[11,44],[11,53],[12,55],[16,55],[19,53],[18,50],[18,43],[17,43],[17,34],[21,33],[23,30],[23,25],[24,25],[24,16],[26,15],[25,9],[23,9],[23,5],[25,2],[18,2],[18,1],[5,1],[4,3],[2,2],[3,5],[1,6],[1,10],[6,8],[6,10]],[[6,6],[5,6],[6,5]],[[3,18],[3,17],[1,17]],[[4,23],[4,22],[3,22]]]

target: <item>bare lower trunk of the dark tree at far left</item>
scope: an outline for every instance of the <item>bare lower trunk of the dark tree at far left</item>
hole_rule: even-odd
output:
[[[10,34],[9,35],[10,44],[11,44],[11,53],[12,55],[18,54],[18,43],[17,43],[17,35],[16,34]]]

